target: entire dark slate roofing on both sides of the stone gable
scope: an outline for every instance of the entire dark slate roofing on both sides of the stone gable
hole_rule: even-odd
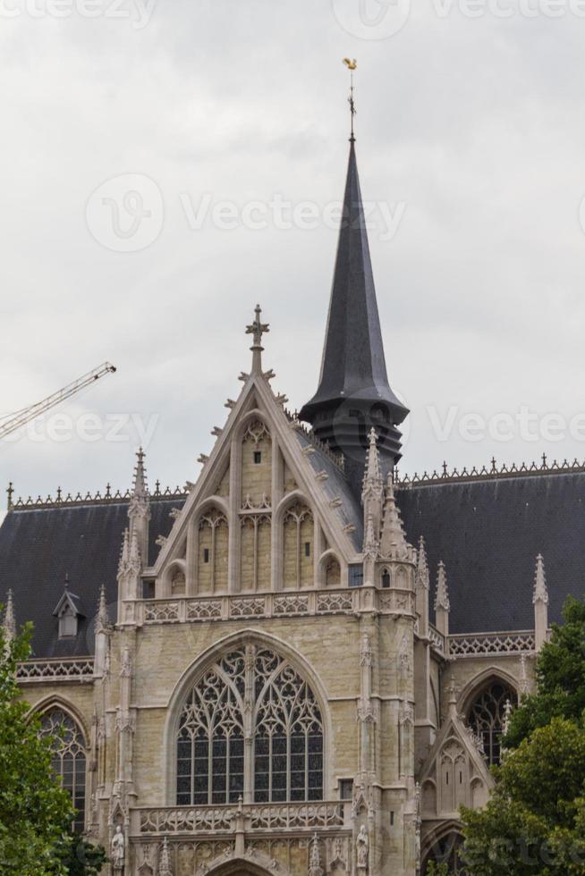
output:
[[[296,433],[301,446],[306,434]],[[362,543],[359,502],[343,472],[318,448],[309,455],[327,497],[339,496],[343,523],[355,526]],[[445,562],[452,633],[496,632],[534,626],[532,586],[538,553],[547,572],[549,619],[560,620],[567,594],[585,594],[585,472],[486,477],[435,482],[397,492],[408,540],[427,543],[433,594],[439,560]],[[168,535],[170,511],[183,501],[151,499],[149,560],[157,556],[158,535]],[[114,617],[116,573],[128,502],[17,509],[0,527],[0,599],[12,588],[18,622],[35,625],[38,657],[93,653],[93,622],[99,588]],[[59,641],[55,605],[64,594],[65,575],[88,617],[80,634]]]

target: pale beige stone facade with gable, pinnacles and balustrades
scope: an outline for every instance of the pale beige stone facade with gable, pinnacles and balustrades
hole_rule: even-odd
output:
[[[95,655],[19,670],[33,710],[59,708],[78,724],[87,747],[86,830],[110,846],[121,827],[127,876],[412,876],[429,851],[456,836],[459,805],[488,798],[486,745],[473,732],[471,708],[494,685],[513,696],[530,689],[538,628],[547,628],[541,560],[535,630],[449,636],[445,569],[432,594],[424,543],[406,542],[375,432],[357,547],[314,465],[318,444],[299,437],[258,360],[151,567],[142,560],[150,509],[140,454],[115,617],[102,594]],[[351,569],[360,569],[358,586]],[[298,793],[289,784],[257,799],[259,707],[248,687],[259,686],[260,659],[285,667],[287,683],[304,685],[317,710],[318,732],[317,723],[303,731],[322,740],[317,793],[301,781]],[[242,720],[244,754],[218,767],[217,786],[212,779],[200,792],[205,801],[188,788],[178,804],[180,716],[224,660],[240,660],[242,678],[251,673],[250,684],[238,687],[236,678],[233,687],[235,700],[242,697],[234,720]],[[292,776],[293,755],[283,756]],[[303,756],[306,770],[312,755]],[[221,772],[233,763],[234,791]]]

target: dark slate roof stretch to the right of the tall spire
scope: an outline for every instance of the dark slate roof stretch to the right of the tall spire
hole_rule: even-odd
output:
[[[585,594],[585,473],[542,473],[399,490],[409,542],[427,543],[433,584],[445,562],[452,633],[534,628],[536,557],[545,560],[548,619]]]

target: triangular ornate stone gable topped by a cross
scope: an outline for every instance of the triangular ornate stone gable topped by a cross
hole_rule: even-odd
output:
[[[238,400],[227,402],[227,422],[214,429],[216,444],[148,569],[157,596],[343,586],[348,563],[359,559],[348,523],[354,510],[332,501],[329,474],[311,459],[326,450],[304,433],[299,440],[298,420],[272,391],[273,373],[262,370],[267,326],[259,316],[249,326],[251,373],[242,374]]]

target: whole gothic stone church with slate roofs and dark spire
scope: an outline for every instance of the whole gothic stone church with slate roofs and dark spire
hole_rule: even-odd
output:
[[[577,463],[401,479],[351,141],[318,390],[250,372],[196,483],[9,493],[4,632],[117,876],[415,876],[457,858],[585,572]],[[544,560],[543,560],[544,557]],[[545,575],[545,560],[547,576]]]

